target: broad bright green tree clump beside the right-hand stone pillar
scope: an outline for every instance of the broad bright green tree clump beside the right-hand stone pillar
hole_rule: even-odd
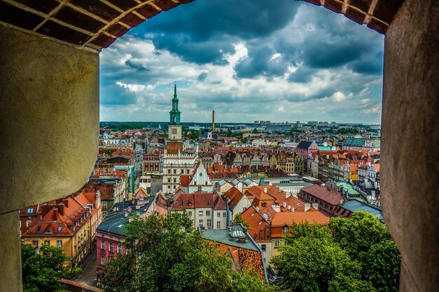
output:
[[[326,226],[293,223],[271,263],[293,291],[398,291],[400,253],[367,212]]]

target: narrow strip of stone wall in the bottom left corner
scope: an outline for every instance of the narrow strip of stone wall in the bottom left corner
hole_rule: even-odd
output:
[[[0,291],[22,291],[19,220],[17,211],[0,215]]]

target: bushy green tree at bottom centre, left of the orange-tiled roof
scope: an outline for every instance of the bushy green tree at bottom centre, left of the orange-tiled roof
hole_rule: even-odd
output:
[[[238,291],[230,260],[203,240],[186,212],[133,217],[125,235],[132,252],[104,265],[104,291]]]

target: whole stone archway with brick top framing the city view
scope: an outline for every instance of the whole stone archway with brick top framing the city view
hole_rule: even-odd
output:
[[[93,168],[99,51],[131,27],[189,2],[0,0],[0,247],[8,251],[0,253],[6,267],[1,289],[21,288],[16,210],[76,191]],[[439,142],[438,1],[307,2],[386,34],[384,216],[403,254],[401,291],[435,291],[439,157],[431,150]]]

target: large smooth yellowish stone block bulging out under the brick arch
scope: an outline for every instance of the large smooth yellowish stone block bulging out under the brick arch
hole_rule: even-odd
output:
[[[3,25],[0,36],[0,213],[6,213],[86,183],[99,138],[99,55]]]

